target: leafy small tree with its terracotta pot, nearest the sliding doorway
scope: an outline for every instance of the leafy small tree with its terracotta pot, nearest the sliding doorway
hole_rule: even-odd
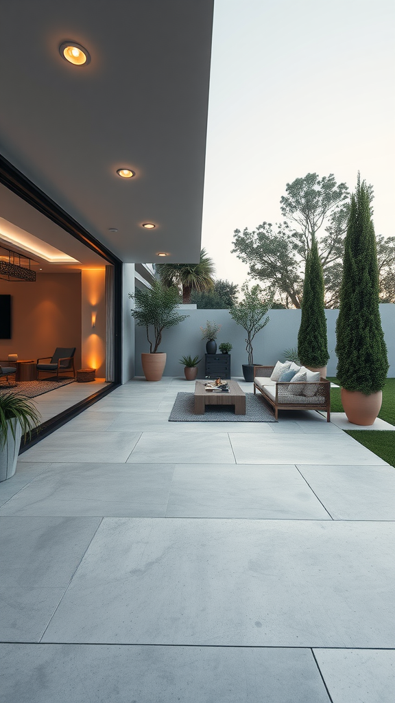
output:
[[[151,288],[129,293],[129,298],[134,300],[136,306],[131,310],[131,316],[137,325],[145,327],[150,344],[150,352],[141,354],[145,379],[160,381],[166,364],[166,354],[157,351],[162,342],[162,332],[178,325],[189,315],[176,314],[180,302],[179,291],[174,287],[167,288],[159,280],[154,280]]]

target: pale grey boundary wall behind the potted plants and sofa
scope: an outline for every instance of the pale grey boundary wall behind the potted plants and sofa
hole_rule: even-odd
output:
[[[181,306],[182,308],[182,306]],[[180,309],[181,311],[181,309]],[[231,342],[231,373],[232,376],[242,375],[242,363],[247,363],[247,352],[245,351],[245,330],[240,325],[236,325],[228,310],[186,310],[189,317],[176,327],[164,330],[160,352],[167,352],[167,363],[164,375],[183,376],[183,366],[179,359],[181,356],[203,356],[198,368],[198,378],[205,375],[205,342],[202,340],[200,327],[204,327],[208,321],[214,321],[222,325],[216,340],[221,342]],[[328,325],[328,349],[330,351],[330,361],[328,362],[328,375],[336,374],[337,357],[335,355],[335,324],[338,310],[325,310]],[[395,376],[395,304],[381,304],[380,314],[382,318],[382,328],[387,343],[389,357],[388,375]],[[287,347],[297,347],[297,333],[300,325],[300,310],[271,310],[268,313],[270,322],[254,338],[254,363],[273,365],[278,359],[283,360],[283,351]],[[141,352],[149,352],[148,342],[145,336],[145,328],[136,325],[136,375],[143,375],[141,368]]]

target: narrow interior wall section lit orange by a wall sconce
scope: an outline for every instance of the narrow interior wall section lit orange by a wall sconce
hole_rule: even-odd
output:
[[[105,378],[105,267],[82,270],[82,368]],[[94,325],[94,326],[93,326]]]

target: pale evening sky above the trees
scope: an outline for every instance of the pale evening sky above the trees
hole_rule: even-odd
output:
[[[214,0],[202,246],[216,277],[247,279],[233,231],[282,221],[307,173],[373,184],[394,236],[393,0]]]

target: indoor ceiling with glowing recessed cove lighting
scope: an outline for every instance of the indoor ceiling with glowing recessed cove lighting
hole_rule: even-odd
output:
[[[38,240],[35,242],[34,240]],[[12,243],[11,243],[12,242]],[[51,247],[72,257],[79,264],[70,264],[72,268],[84,266],[105,266],[107,262],[86,247],[82,242],[65,232],[52,220],[41,214],[35,207],[19,198],[0,183],[0,243],[4,247],[34,254],[40,262],[51,262]],[[50,249],[46,249],[49,245]],[[34,250],[34,251],[33,251]],[[41,255],[40,253],[41,252]],[[47,253],[47,257],[42,254]],[[52,257],[52,262],[53,262]],[[59,259],[58,259],[59,261]],[[63,259],[64,261],[64,259]],[[44,266],[45,271],[60,272],[59,263]],[[67,269],[62,269],[67,270]]]

